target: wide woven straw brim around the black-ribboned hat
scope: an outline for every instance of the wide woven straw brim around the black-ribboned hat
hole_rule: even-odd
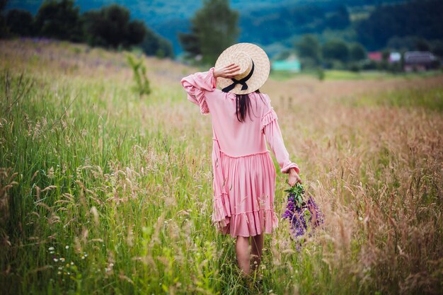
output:
[[[267,57],[266,52],[255,44],[238,43],[226,48],[226,50],[220,54],[214,67],[219,69],[223,66],[228,66],[229,64],[235,64],[236,52],[244,52],[248,54],[251,59],[253,59],[254,71],[251,78],[249,78],[246,82],[248,84],[248,88],[246,90],[241,90],[242,85],[237,84],[229,92],[235,94],[252,93],[263,86],[263,84],[267,81],[270,72],[269,58]],[[231,79],[225,79],[222,77],[217,78],[217,85],[222,89],[231,85],[232,83],[233,81]]]

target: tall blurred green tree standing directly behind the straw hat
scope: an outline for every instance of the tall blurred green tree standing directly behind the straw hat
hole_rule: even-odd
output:
[[[214,64],[226,47],[238,37],[238,12],[229,8],[228,0],[204,0],[203,7],[191,19],[190,33],[178,39],[190,57],[202,54],[202,62]]]

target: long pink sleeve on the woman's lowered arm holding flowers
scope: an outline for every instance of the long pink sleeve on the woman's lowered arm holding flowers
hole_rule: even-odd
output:
[[[268,103],[268,109],[265,111],[265,115],[263,115],[261,120],[261,129],[265,134],[266,141],[274,153],[275,158],[277,158],[282,173],[289,173],[289,169],[291,168],[294,168],[297,173],[300,173],[299,166],[289,160],[289,154],[284,146],[282,132],[280,131],[280,125],[277,121],[277,113],[270,105],[270,100],[268,100]]]

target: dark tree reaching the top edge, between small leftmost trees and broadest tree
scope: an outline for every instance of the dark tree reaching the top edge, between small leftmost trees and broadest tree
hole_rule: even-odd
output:
[[[45,1],[35,16],[35,29],[44,37],[78,42],[82,39],[79,19],[73,0]]]

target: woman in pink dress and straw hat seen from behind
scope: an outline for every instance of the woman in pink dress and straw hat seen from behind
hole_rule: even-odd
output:
[[[267,80],[270,62],[251,43],[232,45],[209,71],[186,76],[181,83],[188,100],[211,114],[214,212],[212,221],[223,234],[236,237],[238,267],[250,273],[260,265],[264,233],[277,228],[274,212],[275,166],[266,143],[288,183],[301,183],[297,164],[289,161],[277,114],[259,88]],[[222,88],[217,89],[217,83]]]

